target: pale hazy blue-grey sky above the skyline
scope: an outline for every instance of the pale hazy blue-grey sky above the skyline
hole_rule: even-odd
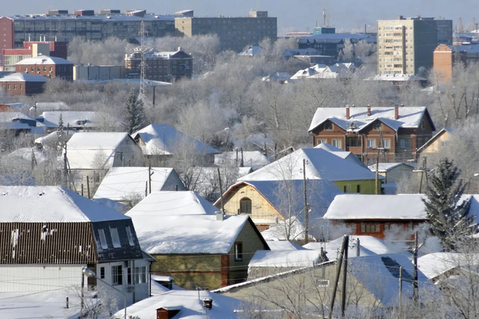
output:
[[[0,15],[44,13],[47,9],[146,9],[147,12],[173,13],[194,9],[195,16],[245,16],[249,9],[267,10],[278,18],[278,33],[310,31],[316,21],[321,24],[326,9],[330,24],[342,30],[363,30],[364,24],[375,28],[376,20],[404,16],[434,16],[452,19],[456,25],[462,17],[465,27],[479,21],[478,0],[20,0],[2,1]],[[134,5],[134,3],[138,3]]]

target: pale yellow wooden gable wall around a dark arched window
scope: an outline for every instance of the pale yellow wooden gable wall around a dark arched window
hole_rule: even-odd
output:
[[[253,220],[256,227],[261,228],[261,230],[269,228],[270,224],[274,224],[275,218],[284,220],[284,217],[281,216],[276,208],[256,188],[250,185],[240,185],[223,198],[225,212],[228,215],[237,215],[240,211],[240,200],[244,197],[251,199],[251,215],[249,217]],[[218,203],[217,207],[220,208],[221,203]]]

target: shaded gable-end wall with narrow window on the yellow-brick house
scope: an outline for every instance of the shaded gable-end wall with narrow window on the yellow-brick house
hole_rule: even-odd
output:
[[[261,242],[254,226],[249,222],[244,224],[235,243],[242,244],[242,258],[236,259],[235,245],[230,250],[230,274],[228,278],[228,285],[243,282],[248,277],[248,264],[253,257],[256,250],[265,250],[268,247]]]

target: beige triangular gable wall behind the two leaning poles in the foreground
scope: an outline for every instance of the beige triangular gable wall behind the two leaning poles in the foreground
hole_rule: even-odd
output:
[[[294,302],[297,305],[327,304],[332,294],[335,273],[336,265],[316,267],[307,272],[283,276],[268,282],[233,288],[221,294],[255,304],[261,303],[261,306],[264,307],[275,306],[272,301],[276,305],[289,306],[291,305],[291,296],[294,296]],[[339,287],[341,284],[342,278],[340,277]],[[348,304],[370,306],[376,302],[376,298],[353,276],[347,277],[346,297]],[[338,289],[336,294],[338,304],[340,300],[341,293]],[[325,315],[327,315],[327,310],[325,311]]]

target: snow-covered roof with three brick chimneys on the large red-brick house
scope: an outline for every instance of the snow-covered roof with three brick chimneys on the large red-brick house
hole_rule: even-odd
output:
[[[426,107],[399,107],[399,117],[395,119],[394,107],[371,107],[371,115],[367,115],[367,107],[349,108],[350,118],[346,119],[344,107],[317,108],[314,113],[308,132],[311,132],[327,120],[333,122],[348,132],[359,132],[376,120],[383,122],[393,130],[399,128],[418,128],[425,115],[428,115]],[[351,123],[354,122],[354,129]],[[432,129],[435,130],[432,124]]]

